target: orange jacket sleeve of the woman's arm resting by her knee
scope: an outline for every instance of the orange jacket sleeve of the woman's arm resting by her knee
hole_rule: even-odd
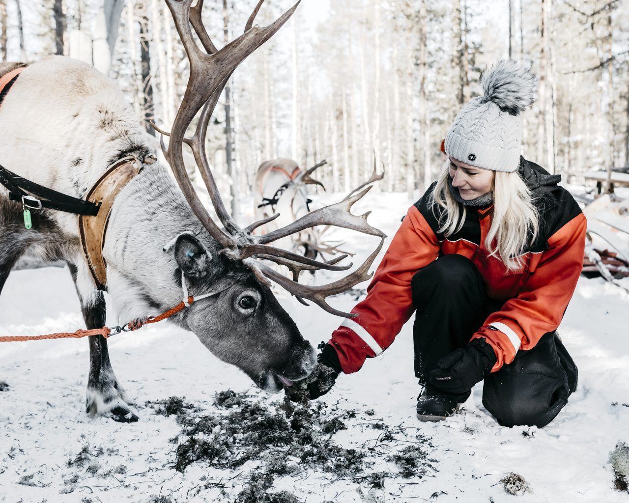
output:
[[[574,294],[583,267],[586,218],[580,213],[548,239],[548,248],[518,296],[487,318],[480,337],[496,351],[492,372],[513,362],[518,350],[535,347],[543,334],[557,329]]]

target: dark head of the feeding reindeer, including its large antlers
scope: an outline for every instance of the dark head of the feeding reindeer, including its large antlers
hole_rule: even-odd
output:
[[[182,286],[188,288],[192,296],[214,292],[214,295],[204,301],[194,302],[184,310],[182,321],[219,358],[242,368],[261,387],[269,391],[278,390],[282,384],[289,385],[292,380],[309,375],[315,358],[311,345],[303,340],[294,321],[273,296],[269,279],[280,284],[304,304],[306,302],[303,299],[309,299],[328,312],[353,317],[355,315],[329,306],[326,297],[344,292],[371,277],[367,270],[382,248],[386,236],[367,224],[370,212],[361,216],[350,213],[352,205],[369,189],[350,194],[337,204],[308,213],[262,236],[253,235],[254,229],[277,218],[277,214],[247,228],[240,228],[233,221],[225,209],[205,153],[209,119],[232,72],[286,23],[299,3],[272,25],[260,28],[253,26],[253,19],[264,1],[260,0],[247,21],[245,33],[221,50],[216,50],[201,22],[203,0],[198,0],[194,7],[191,7],[192,1],[166,0],[190,60],[190,78],[171,133],[156,128],[162,135],[170,136],[168,147],[164,145],[162,136],[164,156],[192,212],[209,233],[206,243],[190,233],[178,236],[174,243],[175,260],[182,272]],[[191,28],[196,31],[206,53],[196,45]],[[201,108],[203,110],[196,131],[192,138],[186,138],[186,130]],[[214,210],[224,228],[220,228],[209,216],[192,187],[184,167],[183,143],[192,149]],[[299,273],[303,270],[342,271],[352,264],[336,265],[347,255],[330,262],[318,262],[267,243],[318,225],[355,229],[379,236],[381,242],[365,263],[343,279],[322,286],[302,285],[298,281]],[[286,265],[292,272],[292,280],[260,260]]]

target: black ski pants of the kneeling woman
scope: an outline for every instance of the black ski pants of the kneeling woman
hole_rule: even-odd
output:
[[[504,301],[487,297],[481,274],[468,258],[444,255],[411,281],[417,310],[413,326],[415,375],[428,389],[446,394],[428,380],[437,362],[469,343],[489,314]],[[503,426],[546,426],[577,387],[577,367],[555,332],[484,380],[482,404]],[[446,394],[447,395],[447,394]],[[470,392],[450,395],[462,403]]]

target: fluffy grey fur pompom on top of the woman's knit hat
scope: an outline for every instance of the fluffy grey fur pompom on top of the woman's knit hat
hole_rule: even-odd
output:
[[[525,65],[503,59],[481,74],[482,102],[493,101],[503,112],[518,115],[536,98],[537,77]]]

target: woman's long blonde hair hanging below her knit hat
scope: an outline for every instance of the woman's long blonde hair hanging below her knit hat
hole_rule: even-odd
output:
[[[438,219],[438,231],[446,237],[462,229],[467,216],[467,207],[459,204],[450,193],[450,161],[443,164],[435,190],[431,194],[430,206]],[[539,232],[539,212],[533,205],[533,195],[517,171],[494,171],[492,184],[494,212],[491,226],[485,238],[485,247],[490,257],[498,257],[508,272],[523,266],[523,255],[527,245],[532,244]],[[435,213],[435,206],[445,211]],[[494,238],[496,246],[493,245]]]

